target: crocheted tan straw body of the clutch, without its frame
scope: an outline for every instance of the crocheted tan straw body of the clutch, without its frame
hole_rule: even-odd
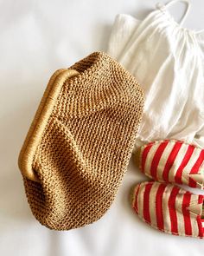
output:
[[[99,220],[111,206],[131,157],[143,91],[118,62],[95,52],[70,69],[23,177],[42,225],[68,230]]]

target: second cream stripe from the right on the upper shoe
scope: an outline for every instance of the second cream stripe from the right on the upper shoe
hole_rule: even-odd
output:
[[[186,154],[187,150],[188,150],[188,145],[182,143],[182,147],[180,148],[178,154],[176,155],[175,161],[169,170],[169,182],[175,182],[175,174],[178,170],[178,167],[180,167],[183,157]]]

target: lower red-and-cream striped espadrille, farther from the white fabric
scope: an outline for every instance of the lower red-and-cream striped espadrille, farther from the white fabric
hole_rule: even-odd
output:
[[[142,220],[165,233],[203,238],[203,201],[202,194],[147,181],[135,187],[132,207]]]

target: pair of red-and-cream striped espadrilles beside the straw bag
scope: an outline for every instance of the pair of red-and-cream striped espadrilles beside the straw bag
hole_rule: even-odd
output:
[[[184,141],[154,141],[135,155],[143,174],[154,181],[134,189],[132,207],[137,215],[165,233],[204,237],[204,195],[174,184],[203,189],[204,149]]]

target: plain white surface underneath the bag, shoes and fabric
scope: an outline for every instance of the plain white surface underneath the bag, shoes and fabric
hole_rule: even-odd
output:
[[[105,216],[67,232],[50,231],[35,220],[17,167],[22,141],[55,69],[105,50],[118,13],[143,19],[156,2],[0,1],[0,255],[203,255],[204,240],[157,232],[132,212],[130,189],[147,180],[132,163]],[[185,26],[201,30],[204,2],[191,2]],[[171,10],[179,17],[183,6],[177,4]]]

